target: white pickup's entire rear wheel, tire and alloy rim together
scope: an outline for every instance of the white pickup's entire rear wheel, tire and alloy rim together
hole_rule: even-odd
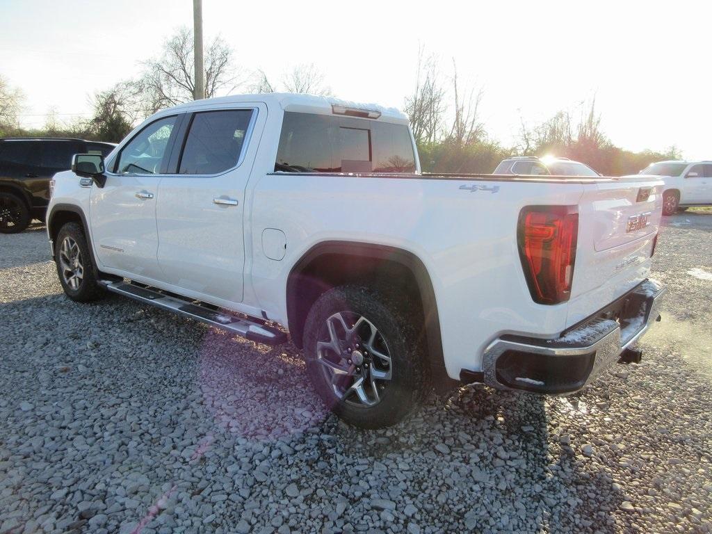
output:
[[[419,322],[369,288],[341,286],[318,298],[305,324],[307,372],[338,417],[377,429],[422,404],[430,381]]]

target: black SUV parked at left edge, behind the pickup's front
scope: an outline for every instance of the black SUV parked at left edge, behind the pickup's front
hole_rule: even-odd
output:
[[[0,233],[14,234],[44,220],[49,181],[69,169],[75,154],[109,155],[110,143],[80,139],[0,139]]]

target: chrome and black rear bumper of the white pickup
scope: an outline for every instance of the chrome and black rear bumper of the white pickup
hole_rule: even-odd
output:
[[[539,393],[578,391],[660,319],[665,292],[659,283],[646,280],[556,339],[499,337],[485,350],[483,382]]]

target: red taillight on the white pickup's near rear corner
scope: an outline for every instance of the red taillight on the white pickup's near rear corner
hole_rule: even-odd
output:
[[[576,206],[528,206],[519,215],[519,256],[535,302],[569,300],[574,277]]]

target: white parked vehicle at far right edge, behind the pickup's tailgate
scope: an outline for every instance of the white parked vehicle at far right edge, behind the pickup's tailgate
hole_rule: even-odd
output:
[[[659,176],[665,182],[663,215],[679,208],[712,206],[712,162],[651,163],[640,174]]]

